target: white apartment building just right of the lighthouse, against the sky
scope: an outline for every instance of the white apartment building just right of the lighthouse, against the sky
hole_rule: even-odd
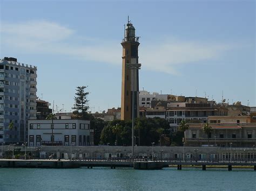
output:
[[[153,92],[150,94],[149,91],[139,91],[139,107],[151,108],[151,101],[167,101],[167,94],[158,94]]]

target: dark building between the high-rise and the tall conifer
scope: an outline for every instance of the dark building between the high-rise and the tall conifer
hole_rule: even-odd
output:
[[[36,100],[36,118],[45,119],[49,114],[52,113],[52,109],[49,108],[51,104],[44,100]]]

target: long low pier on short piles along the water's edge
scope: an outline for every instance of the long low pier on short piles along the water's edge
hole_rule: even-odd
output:
[[[134,169],[162,169],[166,167],[201,167],[203,171],[207,167],[226,167],[228,171],[232,168],[252,168],[256,171],[256,161],[220,161],[220,160],[146,160],[138,158],[83,158],[81,160],[48,160],[48,159],[0,159],[2,168],[79,168],[79,167],[133,167]]]

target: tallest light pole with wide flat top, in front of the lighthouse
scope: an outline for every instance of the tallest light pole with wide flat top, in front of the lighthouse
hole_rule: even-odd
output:
[[[134,154],[134,72],[140,69],[141,63],[126,63],[126,66],[132,69],[132,157]],[[137,95],[136,95],[137,96]],[[137,100],[137,98],[136,98]],[[137,108],[138,109],[138,108]]]

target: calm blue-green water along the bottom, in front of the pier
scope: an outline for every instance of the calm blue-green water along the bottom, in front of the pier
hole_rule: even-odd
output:
[[[0,168],[0,190],[256,190],[256,172],[226,168]]]

